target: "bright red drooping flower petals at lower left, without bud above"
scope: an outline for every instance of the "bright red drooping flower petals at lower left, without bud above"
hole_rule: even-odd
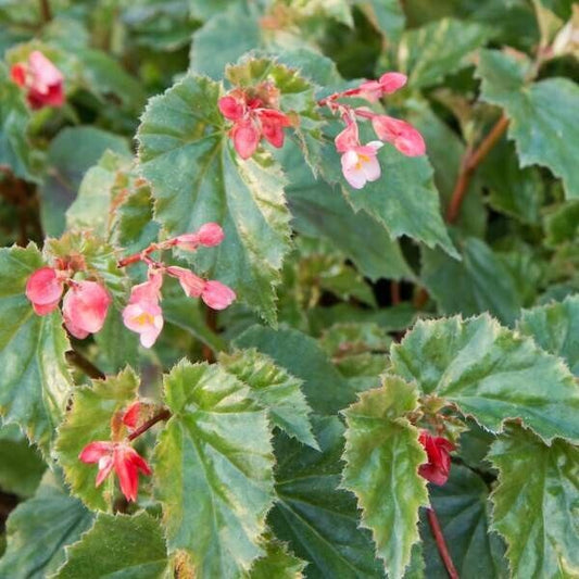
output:
[[[83,449],[78,458],[87,464],[98,463],[96,487],[102,484],[114,468],[121,483],[121,491],[127,501],[137,500],[139,470],[147,476],[152,474],[147,461],[126,442],[90,442]]]

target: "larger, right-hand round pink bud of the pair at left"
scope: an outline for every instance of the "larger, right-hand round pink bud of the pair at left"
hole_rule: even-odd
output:
[[[62,303],[64,325],[75,338],[99,331],[111,304],[109,292],[96,281],[75,281]]]

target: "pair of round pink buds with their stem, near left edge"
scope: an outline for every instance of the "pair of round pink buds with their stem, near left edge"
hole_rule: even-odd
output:
[[[64,325],[78,339],[102,328],[112,301],[98,281],[73,279],[75,272],[81,270],[83,266],[83,260],[56,260],[55,267],[40,267],[26,282],[26,297],[39,316],[56,310],[64,293]]]

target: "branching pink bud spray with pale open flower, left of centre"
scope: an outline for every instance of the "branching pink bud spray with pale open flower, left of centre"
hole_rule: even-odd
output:
[[[150,254],[153,251],[175,247],[196,251],[200,246],[218,246],[223,239],[223,229],[215,223],[206,223],[194,234],[185,234],[162,243],[153,243],[141,253],[119,262],[121,267],[139,261],[149,266],[147,281],[133,288],[128,304],[123,310],[123,323],[129,330],[139,333],[142,347],[151,348],[163,329],[161,288],[164,274],[177,278],[187,297],[201,298],[213,310],[225,310],[236,299],[234,290],[224,284],[205,280],[185,267],[167,266],[152,260]]]

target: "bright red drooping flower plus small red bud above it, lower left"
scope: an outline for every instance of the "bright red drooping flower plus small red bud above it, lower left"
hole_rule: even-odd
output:
[[[114,470],[121,484],[121,491],[127,501],[136,501],[139,489],[139,471],[150,476],[152,474],[149,463],[130,445],[141,414],[141,403],[135,402],[128,406],[122,416],[122,425],[133,433],[122,440],[97,440],[87,444],[78,458],[86,464],[98,464],[97,480],[95,486],[102,482]],[[152,423],[154,424],[154,423]],[[113,430],[118,430],[115,425]]]

